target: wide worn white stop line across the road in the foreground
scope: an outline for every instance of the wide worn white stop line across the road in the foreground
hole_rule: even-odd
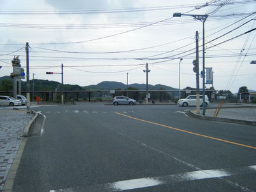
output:
[[[125,181],[117,181],[106,184],[97,184],[94,186],[87,186],[85,188],[68,188],[68,189],[57,189],[50,190],[50,192],[78,192],[78,191],[90,191],[90,189],[94,189],[94,191],[124,191],[131,189],[139,189],[139,188],[148,188],[152,186],[159,186],[162,184],[172,184],[175,182],[187,182],[187,181],[196,181],[202,179],[213,179],[229,177],[232,175],[240,175],[240,174],[255,174],[256,165],[248,166],[248,167],[238,167],[238,168],[226,168],[226,169],[213,169],[213,170],[197,170],[194,172],[186,172],[181,174],[173,174],[173,175],[162,175],[158,177],[145,177],[139,179],[129,179]],[[235,185],[235,188],[241,186]],[[242,188],[243,191],[252,191],[247,188]]]

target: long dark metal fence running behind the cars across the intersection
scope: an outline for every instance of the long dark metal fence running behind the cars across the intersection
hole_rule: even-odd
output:
[[[185,90],[181,90],[181,99],[187,97],[188,95],[196,95],[196,90],[191,90],[190,93],[186,93]],[[206,90],[206,95],[208,98],[213,99],[213,93],[218,91]],[[150,93],[150,101],[154,100],[157,102],[176,102],[179,98],[178,90],[148,90]],[[9,92],[11,95],[12,92]],[[36,97],[40,97],[43,101],[55,102],[60,100],[61,91],[34,91],[30,92],[31,100],[36,100]],[[202,92],[200,93],[202,94]],[[0,95],[5,95],[5,92],[0,92]],[[26,92],[22,92],[22,95],[26,95]],[[131,99],[145,101],[146,90],[115,90],[115,93],[110,93],[110,90],[101,91],[64,91],[64,100],[76,100],[76,101],[87,101],[87,102],[110,102],[113,97],[116,96],[127,96]]]

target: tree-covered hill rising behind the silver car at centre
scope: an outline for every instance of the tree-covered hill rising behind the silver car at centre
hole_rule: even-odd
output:
[[[128,86],[138,88],[139,90],[146,90],[146,84],[139,84],[139,83],[133,83]],[[126,89],[127,85],[121,82],[116,81],[103,81],[101,83],[98,83],[97,85],[89,85],[89,86],[83,86],[86,90],[111,90],[111,89]],[[171,86],[166,85],[150,85],[148,84],[148,90],[176,90],[175,88]]]

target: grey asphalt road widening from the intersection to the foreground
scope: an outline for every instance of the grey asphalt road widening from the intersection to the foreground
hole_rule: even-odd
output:
[[[36,107],[13,191],[256,191],[256,128],[180,106]],[[37,132],[37,134],[35,134]]]

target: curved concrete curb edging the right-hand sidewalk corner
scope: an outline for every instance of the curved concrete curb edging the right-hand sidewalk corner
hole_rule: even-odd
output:
[[[243,125],[254,125],[256,126],[256,121],[248,121],[248,120],[236,120],[236,119],[229,119],[229,118],[215,118],[211,116],[203,116],[201,114],[196,114],[196,110],[194,111],[189,111],[189,114],[193,116],[194,118],[199,118],[201,120],[210,120],[210,121],[221,121],[221,122],[226,122],[226,123],[239,123]]]

